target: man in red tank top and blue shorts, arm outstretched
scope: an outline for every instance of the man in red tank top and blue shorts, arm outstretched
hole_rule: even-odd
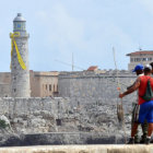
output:
[[[123,96],[131,94],[132,92],[137,91],[139,92],[139,105],[140,105],[140,113],[139,113],[139,119],[138,122],[134,122],[131,129],[131,138],[130,138],[130,142],[133,144],[134,143],[134,136],[138,129],[138,125],[139,123],[143,123],[144,120],[148,120],[149,123],[149,128],[148,128],[148,137],[145,140],[145,143],[149,144],[151,141],[151,134],[153,131],[153,98],[149,102],[146,102],[145,99],[143,99],[142,96],[144,96],[146,87],[148,87],[148,83],[150,80],[151,83],[151,87],[153,90],[153,79],[151,78],[151,73],[152,73],[152,67],[150,64],[146,64],[144,67],[144,75],[139,76],[134,84],[127,90],[125,93],[119,94],[119,97],[122,98]]]

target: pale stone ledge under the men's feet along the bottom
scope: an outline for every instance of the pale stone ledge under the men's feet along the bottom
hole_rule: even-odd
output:
[[[153,145],[44,145],[1,148],[1,153],[152,153]]]

